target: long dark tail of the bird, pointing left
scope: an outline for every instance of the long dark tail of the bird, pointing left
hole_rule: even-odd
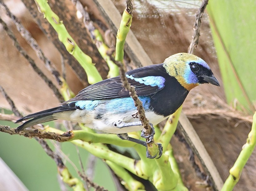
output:
[[[73,104],[68,103],[68,104],[64,104],[64,105],[59,106],[59,107],[54,107],[54,108],[51,108],[51,109],[47,109],[47,110],[44,110],[44,111],[41,111],[41,112],[32,113],[32,114],[29,114],[25,117],[22,117],[22,118],[18,119],[15,123],[22,122],[26,119],[29,119],[29,120],[24,122],[19,127],[17,127],[16,132],[19,132],[20,130],[22,130],[26,127],[37,125],[39,123],[44,123],[44,122],[49,122],[49,121],[56,120],[53,117],[54,113],[75,110],[76,108],[74,106],[72,107],[72,105]]]

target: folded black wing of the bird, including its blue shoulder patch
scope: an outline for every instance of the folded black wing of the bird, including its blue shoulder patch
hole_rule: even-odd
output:
[[[151,95],[165,85],[165,79],[170,77],[163,64],[155,64],[138,69],[131,70],[126,73],[128,82],[135,87],[137,95]],[[95,100],[108,98],[129,97],[129,91],[122,87],[120,77],[105,79],[96,84],[92,84],[81,90],[75,98],[64,103],[70,103],[79,100]]]

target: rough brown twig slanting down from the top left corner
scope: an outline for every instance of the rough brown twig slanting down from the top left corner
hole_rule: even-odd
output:
[[[31,36],[30,32],[27,29],[25,29],[25,27],[21,24],[19,19],[10,12],[6,4],[3,1],[0,1],[0,4],[4,7],[6,15],[10,17],[13,23],[16,25],[16,28],[21,34],[21,36],[27,41],[31,48],[35,50],[38,58],[44,62],[46,68],[53,74],[58,84],[62,85],[62,81],[59,78],[59,72],[55,68],[54,64],[52,64],[51,61],[45,57],[44,52],[40,49],[39,45],[37,44],[37,41]]]

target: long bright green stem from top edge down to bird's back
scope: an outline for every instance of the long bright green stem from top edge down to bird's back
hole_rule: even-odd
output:
[[[58,33],[59,40],[64,44],[67,51],[74,56],[74,58],[84,68],[88,82],[94,84],[102,80],[98,70],[92,63],[90,56],[83,53],[74,39],[69,35],[66,27],[59,20],[59,17],[51,10],[46,0],[35,0],[39,12],[44,14],[44,18],[51,24],[54,30]]]

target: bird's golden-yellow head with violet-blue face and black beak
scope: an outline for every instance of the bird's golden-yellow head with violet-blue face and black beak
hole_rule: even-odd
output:
[[[178,53],[166,58],[163,66],[187,90],[204,83],[220,86],[208,64],[198,56]]]

